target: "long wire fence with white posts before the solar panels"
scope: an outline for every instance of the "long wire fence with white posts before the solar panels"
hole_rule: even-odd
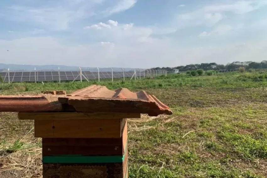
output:
[[[117,69],[117,68],[116,68]],[[140,80],[142,78],[155,76],[167,75],[166,70],[150,70],[150,69],[128,69],[121,71],[103,71],[101,68],[95,68],[95,70],[72,70],[72,71],[11,71],[8,69],[7,72],[0,72],[3,82],[44,82],[44,81],[89,81],[101,79],[117,79],[130,78],[130,80]]]

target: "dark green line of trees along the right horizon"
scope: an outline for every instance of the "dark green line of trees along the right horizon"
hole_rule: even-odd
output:
[[[188,70],[237,70],[240,67],[244,67],[245,69],[267,69],[267,60],[261,61],[261,62],[253,62],[253,61],[247,61],[247,62],[232,62],[228,63],[226,65],[223,64],[217,64],[217,63],[201,63],[201,64],[189,64],[186,66],[177,66],[177,67],[156,67],[152,68],[152,70],[167,70],[172,71],[173,69],[179,69],[179,71],[188,71]]]

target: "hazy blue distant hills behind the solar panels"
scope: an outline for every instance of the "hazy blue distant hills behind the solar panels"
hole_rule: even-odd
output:
[[[33,71],[34,68],[36,68],[36,71],[41,70],[55,70],[57,71],[58,68],[61,71],[70,71],[70,70],[79,70],[78,66],[67,66],[67,65],[20,65],[20,64],[1,64],[0,63],[0,72],[5,72],[9,68],[10,71]],[[82,70],[90,70],[90,71],[97,71],[95,67],[81,67]],[[112,68],[114,72],[116,71],[122,71],[121,68],[114,67]],[[131,68],[124,68],[125,71],[133,70]],[[111,71],[110,68],[99,68],[99,71],[105,72],[105,71]]]

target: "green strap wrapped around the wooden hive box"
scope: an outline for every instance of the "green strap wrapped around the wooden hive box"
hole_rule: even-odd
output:
[[[127,149],[128,141],[125,145]],[[126,153],[126,152],[125,152]],[[83,155],[53,155],[43,156],[43,163],[122,163],[123,156],[83,156]],[[128,164],[128,163],[127,163]]]

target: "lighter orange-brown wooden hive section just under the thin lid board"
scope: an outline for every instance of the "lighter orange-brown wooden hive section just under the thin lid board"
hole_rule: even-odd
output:
[[[35,120],[35,137],[120,138],[125,119]]]

